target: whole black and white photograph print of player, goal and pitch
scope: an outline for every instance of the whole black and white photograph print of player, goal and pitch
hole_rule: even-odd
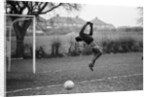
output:
[[[4,7],[6,96],[143,91],[143,6]]]

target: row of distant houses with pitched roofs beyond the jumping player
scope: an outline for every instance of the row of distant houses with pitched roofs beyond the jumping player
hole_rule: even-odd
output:
[[[85,20],[80,17],[62,17],[60,15],[56,15],[48,20],[49,26],[59,28],[59,27],[82,27],[85,24]],[[94,24],[95,29],[114,29],[115,27],[112,24],[108,24],[98,19],[97,17],[91,20]],[[48,26],[48,25],[47,25]]]

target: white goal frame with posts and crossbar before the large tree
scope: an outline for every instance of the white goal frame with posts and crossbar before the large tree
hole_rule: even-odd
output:
[[[19,17],[17,19],[15,19],[14,21],[9,21],[8,17]],[[11,61],[13,60],[12,58],[12,30],[13,30],[13,24],[16,22],[22,22],[25,20],[29,20],[32,19],[33,22],[33,26],[32,26],[32,35],[33,35],[33,39],[32,39],[32,69],[33,69],[33,73],[36,73],[36,17],[34,15],[17,15],[17,14],[5,14],[5,46],[7,49],[5,49],[5,55],[6,55],[6,64],[8,66],[8,68],[6,68],[6,70],[8,69],[8,72],[11,72]],[[8,35],[7,35],[8,34]],[[9,53],[9,54],[7,54]]]

